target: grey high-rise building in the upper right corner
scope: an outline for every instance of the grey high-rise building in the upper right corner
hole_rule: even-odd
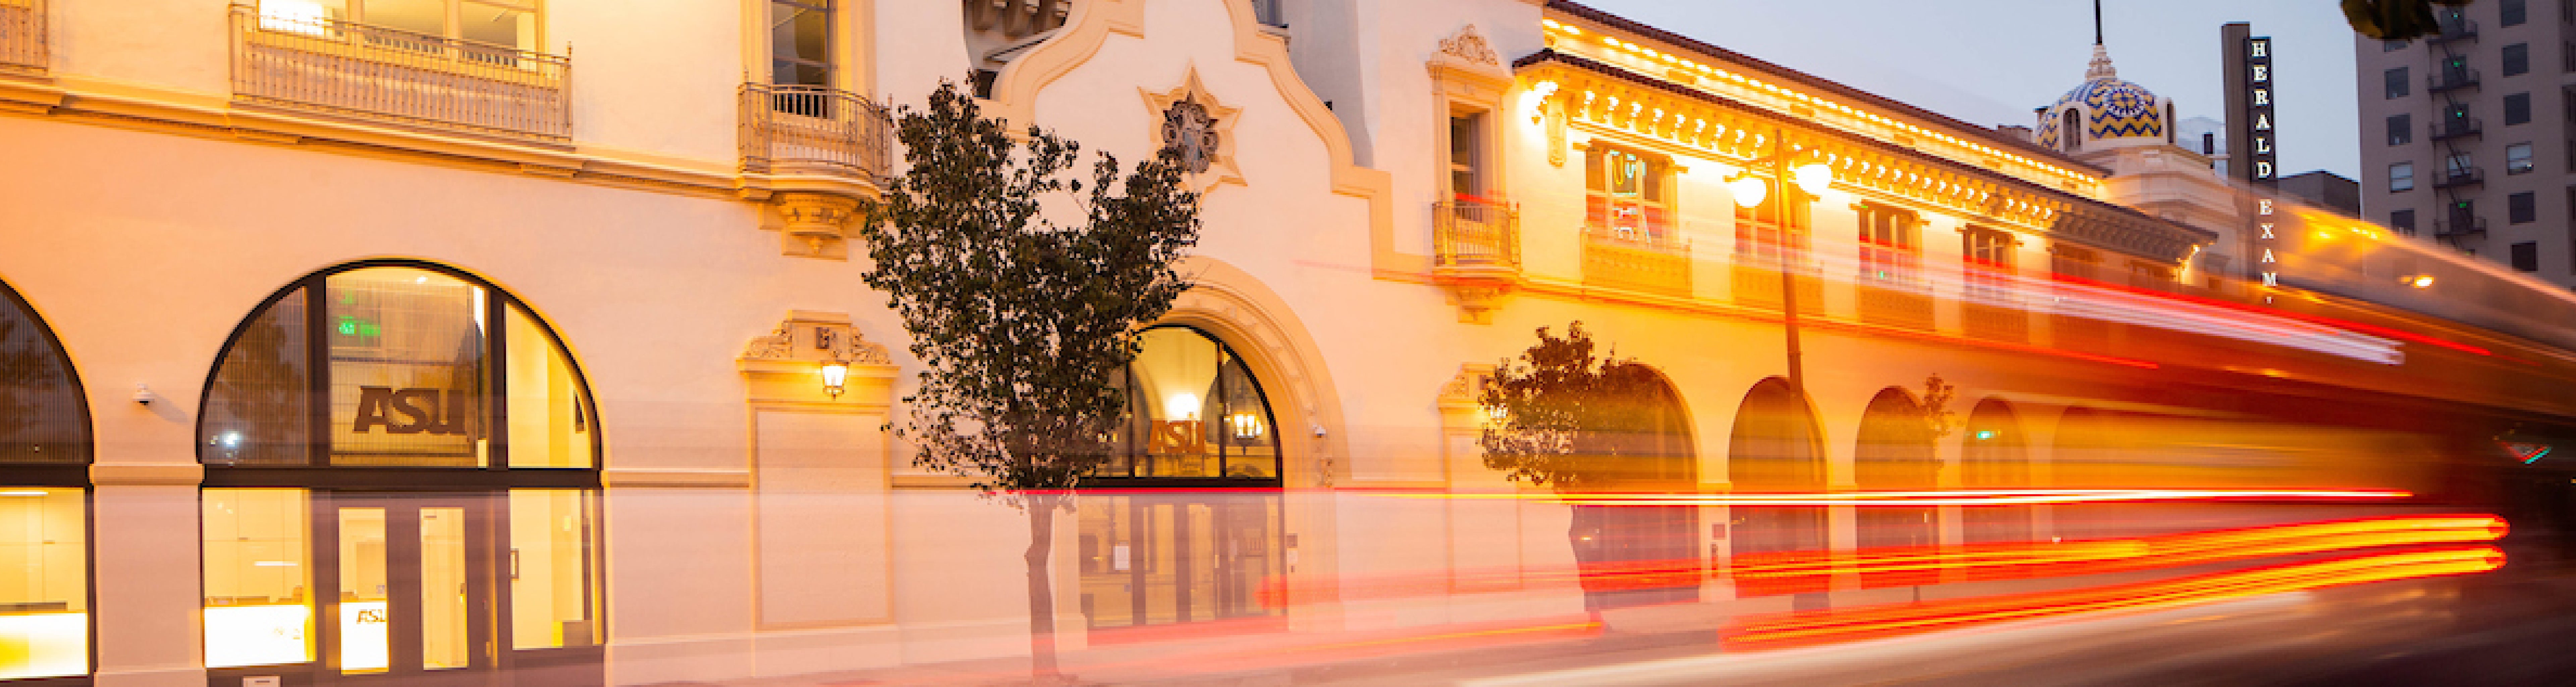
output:
[[[2576,85],[2558,77],[2576,72],[2576,5],[2496,0],[2437,18],[2434,36],[2354,41],[2362,211],[2576,286]]]

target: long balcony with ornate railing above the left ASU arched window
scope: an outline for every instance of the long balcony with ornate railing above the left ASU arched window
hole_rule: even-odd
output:
[[[232,5],[232,95],[247,103],[567,142],[569,82],[559,54]]]

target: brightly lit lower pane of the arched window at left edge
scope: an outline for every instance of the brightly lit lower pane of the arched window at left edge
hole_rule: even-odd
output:
[[[0,679],[90,674],[85,502],[0,486]]]

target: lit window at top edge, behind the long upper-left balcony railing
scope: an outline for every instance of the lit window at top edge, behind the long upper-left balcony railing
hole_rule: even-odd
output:
[[[260,0],[260,26],[270,31],[327,33],[335,21],[502,49],[538,46],[538,0]]]

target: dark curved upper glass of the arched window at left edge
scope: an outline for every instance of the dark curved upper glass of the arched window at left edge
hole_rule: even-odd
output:
[[[88,463],[72,363],[18,293],[0,286],[0,463]]]

